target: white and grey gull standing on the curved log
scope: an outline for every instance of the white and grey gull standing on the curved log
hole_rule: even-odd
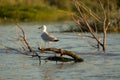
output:
[[[47,32],[46,25],[42,25],[38,29],[43,29],[43,32],[41,34],[41,38],[45,42],[45,46],[46,46],[46,43],[48,43],[48,47],[49,47],[50,42],[58,42],[59,41],[54,35]]]

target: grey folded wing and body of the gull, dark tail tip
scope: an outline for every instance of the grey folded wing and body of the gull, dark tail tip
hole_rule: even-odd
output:
[[[49,34],[47,32],[43,32],[41,37],[44,41],[53,41],[53,42],[59,41],[55,36],[53,36],[52,34]]]

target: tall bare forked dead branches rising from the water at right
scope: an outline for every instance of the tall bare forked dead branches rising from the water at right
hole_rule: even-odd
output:
[[[103,19],[102,17],[99,17],[97,13],[93,12],[91,9],[89,9],[82,1],[78,1],[78,0],[74,0],[74,4],[75,7],[79,13],[79,15],[75,15],[73,16],[73,20],[79,25],[81,26],[80,22],[83,21],[86,24],[86,28],[87,30],[90,32],[91,36],[97,41],[97,48],[99,50],[100,46],[102,47],[102,50],[104,52],[106,52],[106,33],[107,33],[107,29],[110,25],[109,22],[109,17],[107,16],[107,12],[103,6],[103,3],[101,2],[101,0],[98,0],[99,5],[102,9],[103,12]],[[108,0],[108,7],[109,7],[109,0]],[[109,8],[108,8],[109,9]],[[109,10],[108,10],[109,11]],[[86,13],[87,12],[87,13]],[[99,22],[100,24],[103,25],[102,29],[102,33],[103,33],[103,40],[100,41],[100,37],[98,34],[96,34],[97,32],[97,27],[96,30],[94,30],[92,28],[92,26],[89,24],[88,19],[86,18],[87,15],[90,15],[91,17],[93,17],[97,22]],[[81,19],[82,18],[82,19]],[[81,30],[82,31],[82,30]]]

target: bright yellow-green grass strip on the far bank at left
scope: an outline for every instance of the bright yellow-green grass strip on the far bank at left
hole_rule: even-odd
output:
[[[45,9],[44,9],[45,8]],[[0,6],[1,21],[56,21],[65,14],[58,9],[39,6]],[[62,15],[62,16],[61,16]]]

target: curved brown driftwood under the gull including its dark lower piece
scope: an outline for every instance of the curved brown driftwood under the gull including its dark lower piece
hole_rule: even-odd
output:
[[[75,61],[75,62],[83,62],[83,59],[80,58],[79,56],[77,56],[74,52],[72,51],[68,51],[68,50],[64,50],[64,49],[57,49],[57,48],[38,48],[40,51],[53,51],[56,54],[60,54],[60,57],[48,57],[49,59],[53,59],[53,60],[65,60],[65,62],[67,61]],[[70,57],[72,57],[73,59],[69,59],[69,58],[65,58],[62,57],[62,55],[68,55]]]

